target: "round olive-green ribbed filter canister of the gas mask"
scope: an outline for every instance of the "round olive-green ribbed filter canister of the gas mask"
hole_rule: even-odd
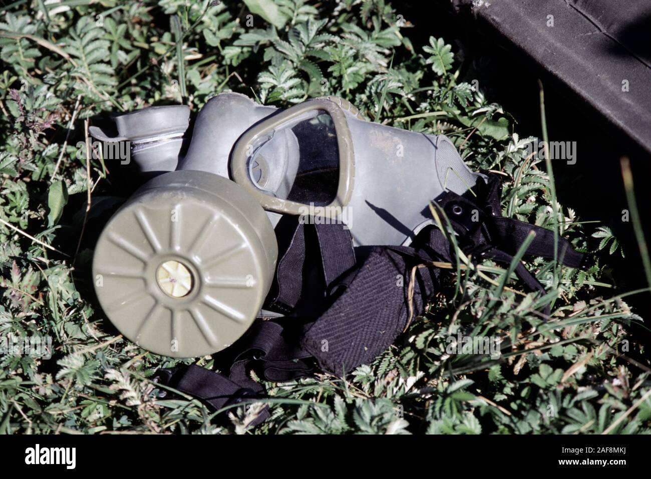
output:
[[[120,332],[156,354],[196,357],[234,343],[268,293],[277,259],[257,201],[218,175],[146,183],[111,218],[93,259],[95,291]]]

